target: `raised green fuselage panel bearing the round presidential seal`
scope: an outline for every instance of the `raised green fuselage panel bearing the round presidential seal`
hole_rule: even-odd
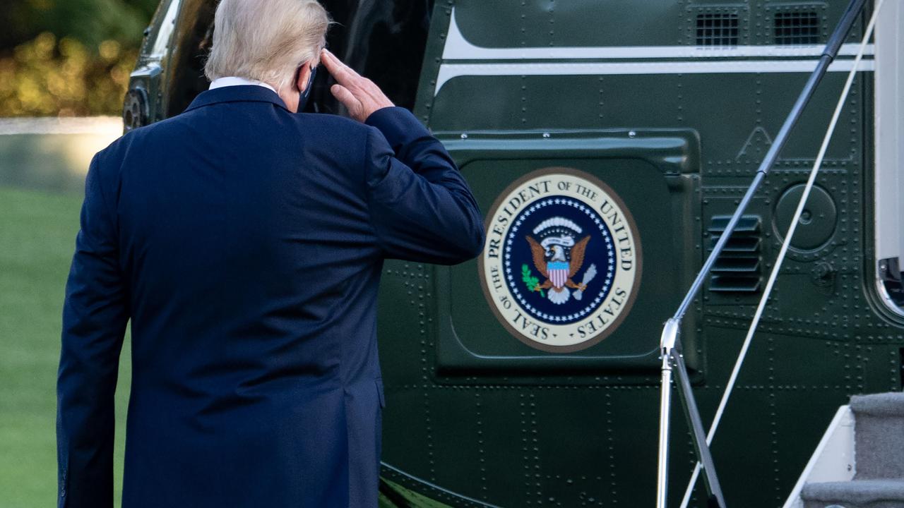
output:
[[[436,135],[487,232],[480,258],[437,268],[438,374],[655,373],[662,324],[702,258],[696,132]]]

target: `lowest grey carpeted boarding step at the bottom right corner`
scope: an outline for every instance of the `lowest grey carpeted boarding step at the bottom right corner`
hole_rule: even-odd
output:
[[[805,484],[804,508],[904,508],[904,480]]]

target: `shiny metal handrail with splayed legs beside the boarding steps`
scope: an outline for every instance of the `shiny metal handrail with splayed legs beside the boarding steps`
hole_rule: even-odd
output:
[[[716,259],[719,258],[722,249],[725,248],[726,243],[730,239],[731,233],[737,226],[741,215],[747,209],[750,201],[752,201],[753,196],[757,192],[760,183],[762,183],[772,165],[775,164],[778,153],[785,146],[788,134],[791,132],[791,129],[795,126],[797,120],[800,118],[806,104],[813,97],[816,86],[823,79],[825,72],[828,71],[829,65],[838,54],[838,50],[841,48],[844,39],[847,38],[848,33],[850,33],[853,22],[861,12],[862,7],[865,3],[866,0],[851,0],[850,4],[847,6],[847,9],[842,16],[841,21],[839,21],[838,25],[835,27],[832,37],[826,44],[825,49],[816,64],[815,70],[810,74],[810,77],[806,81],[804,89],[801,90],[800,96],[797,98],[794,107],[791,109],[791,112],[785,119],[785,123],[778,131],[778,135],[773,141],[772,146],[769,147],[766,156],[763,158],[762,163],[759,165],[757,173],[754,176],[753,182],[750,183],[747,193],[744,194],[744,197],[739,202],[738,208],[731,216],[728,225],[722,232],[719,240],[716,242],[716,245],[712,249],[709,258],[707,258],[703,263],[703,267],[697,274],[697,277],[694,279],[687,294],[684,296],[684,299],[681,305],[678,307],[678,310],[675,312],[671,319],[666,321],[664,325],[663,335],[660,341],[660,350],[663,363],[661,379],[662,385],[660,387],[659,464],[656,485],[657,508],[665,508],[666,498],[668,494],[669,420],[671,419],[671,384],[673,364],[678,368],[680,378],[678,388],[683,396],[685,414],[690,422],[692,429],[692,434],[694,437],[694,447],[696,448],[699,462],[702,464],[703,470],[706,474],[706,483],[708,490],[718,506],[720,506],[720,508],[725,508],[725,500],[722,497],[719,480],[716,476],[715,467],[712,464],[710,448],[707,444],[705,434],[702,430],[703,427],[700,411],[696,407],[696,403],[694,401],[693,393],[691,390],[691,383],[687,378],[687,369],[684,364],[683,356],[681,354],[681,340],[679,337],[681,321],[684,314],[687,312],[687,309],[691,306],[693,299],[700,292],[700,289],[703,286],[703,281],[709,275],[711,268],[715,264]]]

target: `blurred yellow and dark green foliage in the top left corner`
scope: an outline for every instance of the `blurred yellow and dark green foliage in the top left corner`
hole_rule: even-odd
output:
[[[159,0],[5,0],[0,116],[118,115]]]

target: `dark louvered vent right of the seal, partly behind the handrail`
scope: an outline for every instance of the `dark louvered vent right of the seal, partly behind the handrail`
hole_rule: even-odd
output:
[[[711,251],[728,226],[730,215],[716,215],[710,223]],[[716,259],[710,276],[710,291],[716,293],[756,293],[762,281],[760,219],[744,215],[730,240]]]

